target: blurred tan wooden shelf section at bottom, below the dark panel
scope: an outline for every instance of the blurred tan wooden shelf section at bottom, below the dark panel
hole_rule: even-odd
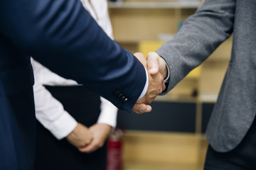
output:
[[[205,135],[127,130],[124,170],[202,169],[208,142]]]

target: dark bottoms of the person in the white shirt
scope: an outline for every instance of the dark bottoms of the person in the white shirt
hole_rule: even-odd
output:
[[[91,126],[100,115],[100,96],[82,86],[50,87],[47,89],[58,99],[78,122]],[[57,140],[38,121],[36,123],[35,170],[105,170],[107,145],[90,154],[79,152],[63,139]]]

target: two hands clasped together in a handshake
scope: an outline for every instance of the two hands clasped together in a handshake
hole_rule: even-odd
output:
[[[164,79],[168,76],[168,69],[163,58],[156,54],[156,52],[149,52],[147,57],[140,52],[134,54],[137,59],[142,62],[149,74],[149,86],[146,94],[137,100],[132,111],[135,113],[145,113],[152,110],[149,103],[154,101],[157,95],[161,94],[166,89]]]

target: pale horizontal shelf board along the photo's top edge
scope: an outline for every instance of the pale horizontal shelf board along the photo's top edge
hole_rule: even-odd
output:
[[[109,8],[198,8],[201,1],[169,1],[169,2],[109,2]]]

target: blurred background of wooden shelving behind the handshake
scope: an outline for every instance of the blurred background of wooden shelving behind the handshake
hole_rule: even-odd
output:
[[[170,40],[201,0],[112,0],[109,13],[114,40],[144,55]],[[119,111],[109,141],[108,169],[201,170],[208,142],[205,131],[230,60],[232,38],[194,69],[151,113]],[[114,151],[114,149],[117,149]],[[112,160],[110,160],[112,159]],[[117,164],[119,164],[117,166]]]

